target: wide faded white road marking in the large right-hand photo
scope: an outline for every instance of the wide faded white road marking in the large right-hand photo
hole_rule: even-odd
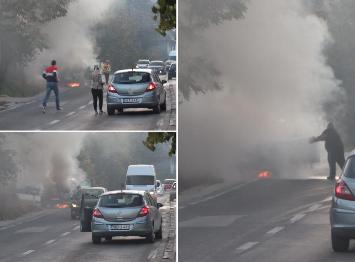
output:
[[[218,227],[228,226],[236,219],[245,217],[246,215],[206,215],[198,216],[192,219],[188,219],[180,222],[179,226],[191,226],[191,227]]]

